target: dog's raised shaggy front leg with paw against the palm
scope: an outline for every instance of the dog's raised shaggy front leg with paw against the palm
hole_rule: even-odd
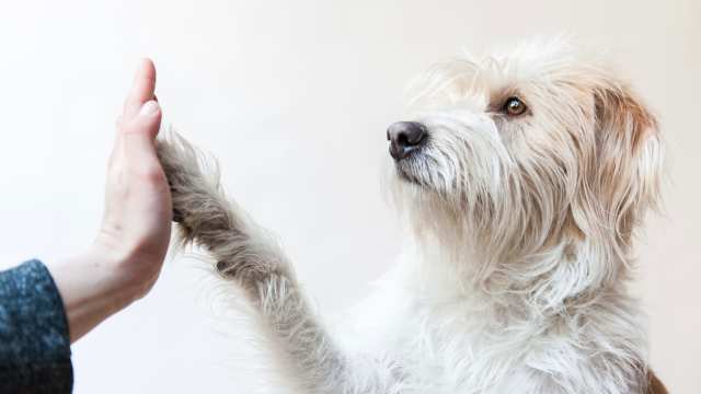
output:
[[[277,243],[229,201],[216,171],[180,136],[159,140],[158,153],[185,242],[207,250],[216,270],[235,280],[260,309],[312,393],[399,393],[393,362],[350,359],[334,345],[309,308]]]

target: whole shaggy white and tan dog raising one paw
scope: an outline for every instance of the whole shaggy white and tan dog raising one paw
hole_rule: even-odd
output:
[[[184,240],[248,292],[303,392],[664,392],[625,289],[635,231],[658,201],[653,115],[560,42],[448,61],[421,82],[411,121],[388,130],[410,242],[359,309],[352,346],[171,136],[159,154]]]

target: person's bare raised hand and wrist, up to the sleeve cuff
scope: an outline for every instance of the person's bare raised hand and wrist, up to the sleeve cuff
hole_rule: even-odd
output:
[[[84,253],[49,266],[71,341],[143,297],[168,252],[171,194],[156,154],[161,111],[154,88],[156,69],[145,59],[117,121],[97,236]]]

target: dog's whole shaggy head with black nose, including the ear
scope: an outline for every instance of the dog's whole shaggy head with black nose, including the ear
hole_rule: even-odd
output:
[[[624,254],[662,165],[656,121],[629,88],[561,43],[453,60],[388,129],[416,227],[502,258],[579,241]],[[595,241],[598,240],[598,241]]]

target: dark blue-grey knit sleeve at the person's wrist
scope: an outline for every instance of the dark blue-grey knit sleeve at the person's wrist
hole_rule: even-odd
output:
[[[68,321],[46,267],[0,271],[0,393],[65,394],[73,384]]]

